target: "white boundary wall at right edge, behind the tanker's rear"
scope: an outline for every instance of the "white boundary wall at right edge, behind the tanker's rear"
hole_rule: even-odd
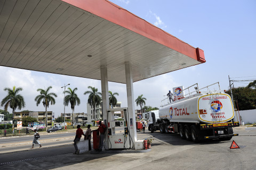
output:
[[[256,109],[254,109],[254,110],[239,110],[239,114],[238,114],[238,111],[236,111],[235,112],[235,120],[237,120],[236,113],[237,113],[239,122],[240,122],[240,120],[239,120],[239,114],[240,114],[244,124],[247,124],[247,123],[256,124]]]

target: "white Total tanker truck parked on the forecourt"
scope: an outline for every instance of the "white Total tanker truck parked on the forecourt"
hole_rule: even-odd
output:
[[[210,91],[209,86],[206,87],[207,91],[201,91],[203,88],[199,90],[197,85],[195,93],[182,95],[177,100],[174,98],[174,102],[163,105],[159,110],[149,111],[148,130],[151,133],[158,130],[161,133],[179,133],[182,139],[194,142],[230,140],[237,136],[233,127],[239,126],[239,122],[234,122],[230,96],[225,91]]]

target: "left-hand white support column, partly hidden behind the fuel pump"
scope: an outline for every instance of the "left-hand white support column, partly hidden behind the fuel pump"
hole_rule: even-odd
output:
[[[108,70],[106,66],[100,67],[100,77],[101,77],[101,94],[102,94],[102,116],[103,122],[107,125],[107,114],[109,109],[109,99],[108,99]],[[108,134],[105,136],[105,149],[108,150]]]

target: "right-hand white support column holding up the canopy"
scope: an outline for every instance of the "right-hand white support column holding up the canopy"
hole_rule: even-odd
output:
[[[135,149],[135,141],[137,141],[137,129],[134,109],[134,96],[133,96],[133,80],[131,63],[125,62],[125,78],[126,78],[126,91],[127,91],[127,103],[128,103],[128,125],[130,128],[130,135],[132,137],[131,143],[133,143],[132,149]]]

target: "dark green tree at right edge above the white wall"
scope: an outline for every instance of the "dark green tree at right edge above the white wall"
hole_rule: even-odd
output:
[[[231,94],[230,90],[226,92],[227,94]],[[233,99],[235,101],[235,106],[239,110],[250,110],[256,109],[256,90],[247,87],[237,87],[232,88]],[[237,102],[236,102],[237,101]]]

